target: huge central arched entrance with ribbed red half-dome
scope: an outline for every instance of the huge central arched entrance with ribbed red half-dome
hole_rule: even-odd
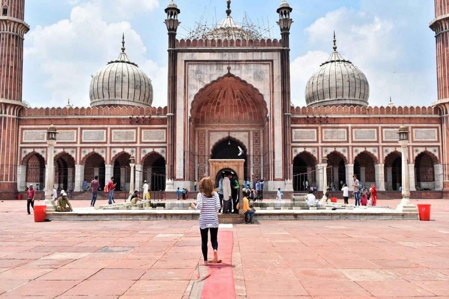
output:
[[[215,176],[215,173],[207,172],[208,159],[244,159],[245,178],[252,180],[269,174],[269,156],[264,159],[265,152],[269,152],[268,138],[264,144],[261,138],[265,134],[269,135],[269,126],[266,126],[268,108],[264,96],[257,88],[231,74],[229,69],[227,74],[198,91],[190,106],[190,116],[191,133],[187,142],[189,151],[195,154],[188,156],[189,173],[196,173],[198,179],[205,173]],[[251,148],[243,146],[242,142],[232,137],[215,145],[207,144],[210,139],[206,136],[211,131],[220,131],[222,134],[225,130],[232,135],[236,130],[241,130],[242,124],[249,134],[248,141],[252,139],[252,142],[248,142]],[[207,152],[207,148],[211,148],[211,152]]]

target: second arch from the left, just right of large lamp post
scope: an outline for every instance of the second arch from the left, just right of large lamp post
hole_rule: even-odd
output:
[[[54,185],[57,190],[69,190],[75,186],[75,160],[66,152],[55,157]]]

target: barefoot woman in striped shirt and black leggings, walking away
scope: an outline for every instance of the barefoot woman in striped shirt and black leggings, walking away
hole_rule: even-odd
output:
[[[213,263],[220,263],[218,260],[218,210],[220,210],[220,199],[218,193],[213,191],[211,178],[203,178],[199,184],[197,204],[192,203],[192,208],[199,210],[199,230],[201,232],[201,250],[204,264],[207,264],[207,231],[211,231],[211,243],[214,249]]]

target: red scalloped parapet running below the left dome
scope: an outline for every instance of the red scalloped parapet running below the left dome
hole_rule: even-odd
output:
[[[167,115],[167,107],[52,107],[52,108],[23,108],[21,117],[52,117],[52,116],[149,116]]]

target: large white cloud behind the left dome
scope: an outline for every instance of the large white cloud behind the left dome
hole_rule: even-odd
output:
[[[108,0],[108,3],[112,1],[123,5],[142,4],[142,9],[153,9],[158,4],[154,0]],[[147,49],[141,36],[129,22],[106,22],[104,9],[103,0],[83,1],[73,7],[69,19],[50,26],[36,26],[28,33],[25,59],[38,65],[41,84],[51,93],[50,99],[32,100],[32,106],[62,106],[69,97],[74,105],[88,106],[91,75],[119,55],[122,32],[128,56],[153,80],[153,103],[166,105],[167,83],[159,81],[165,78],[166,82],[167,68],[146,58]]]

